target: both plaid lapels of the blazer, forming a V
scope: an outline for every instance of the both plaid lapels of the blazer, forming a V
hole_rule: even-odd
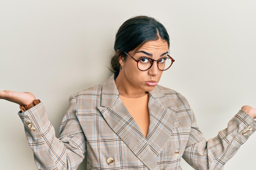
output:
[[[157,87],[155,87],[157,88]],[[160,97],[163,101],[159,103]],[[168,107],[166,107],[168,106]],[[97,106],[110,128],[150,170],[159,170],[156,157],[171,136],[175,121],[175,107],[169,107],[162,91],[149,92],[150,124],[147,137],[122,102],[114,74],[103,84],[101,106]]]

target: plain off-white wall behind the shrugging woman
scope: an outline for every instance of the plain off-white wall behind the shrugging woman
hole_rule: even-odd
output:
[[[69,96],[110,77],[119,26],[149,15],[168,30],[175,59],[159,84],[188,99],[208,140],[243,105],[256,107],[255,9],[252,0],[2,0],[0,91],[33,93],[58,137]],[[19,105],[0,100],[0,108],[1,169],[36,170]],[[224,169],[255,169],[255,143],[253,134]]]

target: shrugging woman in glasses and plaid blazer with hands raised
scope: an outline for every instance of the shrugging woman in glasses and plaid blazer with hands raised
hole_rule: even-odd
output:
[[[206,141],[186,98],[157,84],[175,61],[169,44],[154,18],[124,22],[116,34],[114,74],[70,96],[58,138],[32,93],[1,91],[1,99],[20,105],[38,169],[74,170],[86,150],[87,167],[94,170],[181,170],[181,157],[198,170],[223,169],[256,130],[256,109],[243,106],[226,129]]]

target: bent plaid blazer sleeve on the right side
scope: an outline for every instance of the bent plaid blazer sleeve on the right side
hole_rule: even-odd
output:
[[[187,102],[187,100],[186,100]],[[206,141],[189,103],[191,131],[182,158],[196,170],[223,170],[242,144],[256,130],[256,120],[244,110],[228,122],[227,128]]]

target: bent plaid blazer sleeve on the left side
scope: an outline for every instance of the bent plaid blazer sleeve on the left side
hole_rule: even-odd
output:
[[[18,112],[39,170],[76,170],[83,161],[86,138],[76,117],[76,111],[76,98],[71,95],[58,138],[42,101],[23,113]],[[30,122],[35,130],[30,130]]]

